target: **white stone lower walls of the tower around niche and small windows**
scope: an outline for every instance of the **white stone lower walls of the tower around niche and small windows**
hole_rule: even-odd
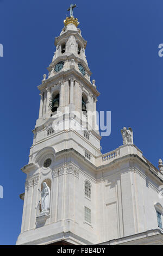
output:
[[[18,237],[17,244],[38,244],[36,240],[41,241],[41,239],[45,239],[51,234],[57,235],[59,231],[71,231],[82,237],[82,239],[92,243],[97,242],[95,174],[93,174],[92,170],[88,170],[78,158],[72,159],[71,155],[67,155],[66,165],[62,161],[63,158],[60,157],[60,159],[52,163],[51,167],[40,167],[37,171],[40,178],[37,179],[37,182],[35,181],[35,184],[35,174],[28,179],[24,200],[22,232]],[[71,161],[74,163],[71,164]],[[40,199],[38,188],[41,189],[41,184],[45,179],[52,181],[50,217],[43,227],[37,227],[36,206]],[[91,183],[91,199],[85,197],[84,194],[85,180],[89,180]],[[92,211],[91,223],[87,223],[84,220],[84,206]],[[51,229],[51,225],[53,229]]]

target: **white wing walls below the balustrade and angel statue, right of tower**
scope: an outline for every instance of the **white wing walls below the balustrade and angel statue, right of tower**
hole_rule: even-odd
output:
[[[137,161],[97,174],[97,229],[101,241],[158,228],[154,205],[161,181]],[[101,217],[103,216],[103,217]],[[163,223],[163,219],[162,219]]]

